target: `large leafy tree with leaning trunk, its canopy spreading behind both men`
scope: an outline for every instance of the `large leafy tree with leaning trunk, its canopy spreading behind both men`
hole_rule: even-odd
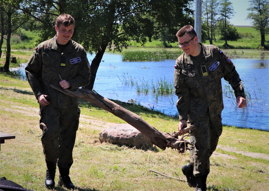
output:
[[[191,0],[193,1],[193,0]],[[73,40],[88,52],[96,53],[91,64],[92,89],[96,72],[106,48],[121,51],[128,41],[143,45],[153,36],[170,35],[176,40],[177,30],[193,24],[189,0],[23,0],[13,6],[39,21],[41,41],[55,35],[55,19],[60,13],[71,14],[76,21]]]

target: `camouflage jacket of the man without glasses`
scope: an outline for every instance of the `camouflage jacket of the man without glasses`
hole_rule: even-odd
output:
[[[90,82],[90,64],[84,48],[70,40],[63,52],[57,47],[56,35],[39,44],[31,55],[25,68],[27,80],[36,96],[46,98],[53,107],[70,108],[78,104],[77,98],[51,88],[59,85],[60,77],[70,83],[69,89],[79,88]]]

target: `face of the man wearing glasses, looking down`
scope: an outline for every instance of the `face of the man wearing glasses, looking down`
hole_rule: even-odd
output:
[[[194,38],[190,35],[190,34],[184,34],[181,37],[177,37],[178,39],[178,43],[180,44],[186,44],[186,42],[188,42],[188,46],[181,46],[181,49],[187,54],[187,55],[192,55],[192,56],[196,56],[196,50],[197,50],[197,36],[195,36]],[[198,44],[199,45],[199,44]]]

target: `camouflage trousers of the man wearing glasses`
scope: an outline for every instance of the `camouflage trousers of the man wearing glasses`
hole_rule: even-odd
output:
[[[221,114],[210,117],[207,110],[205,117],[194,115],[188,116],[188,123],[194,125],[195,151],[190,164],[195,177],[208,175],[210,172],[210,160],[212,153],[216,150],[219,137],[222,133]]]

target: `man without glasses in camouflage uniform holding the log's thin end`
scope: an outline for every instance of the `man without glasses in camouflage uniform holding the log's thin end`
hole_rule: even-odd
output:
[[[79,125],[78,99],[50,87],[76,89],[90,82],[90,65],[84,48],[71,40],[75,20],[69,14],[56,19],[56,35],[39,44],[25,73],[40,105],[42,146],[47,164],[45,186],[53,189],[56,164],[60,186],[75,189],[69,177]]]

